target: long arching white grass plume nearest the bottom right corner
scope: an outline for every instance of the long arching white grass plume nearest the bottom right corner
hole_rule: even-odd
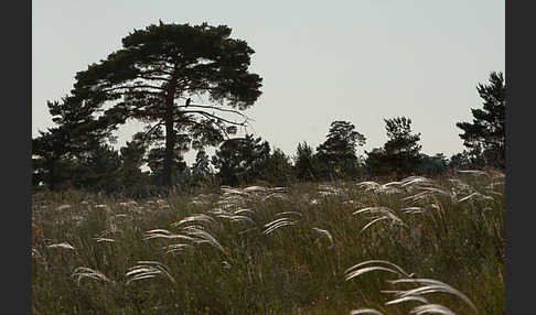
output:
[[[476,306],[474,306],[473,302],[469,300],[465,294],[461,293],[460,291],[455,290],[454,287],[448,285],[444,282],[433,280],[433,279],[398,279],[394,281],[389,281],[392,284],[397,284],[397,283],[416,283],[420,284],[422,286],[419,286],[417,289],[411,289],[411,290],[406,290],[406,291],[399,291],[396,293],[398,297],[406,297],[406,296],[420,296],[422,294],[428,294],[428,293],[436,293],[436,292],[443,292],[443,293],[450,293],[452,295],[458,296],[460,300],[465,302],[471,308],[473,308],[474,312],[476,311]]]

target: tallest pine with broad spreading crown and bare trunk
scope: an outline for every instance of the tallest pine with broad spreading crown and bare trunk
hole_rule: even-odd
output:
[[[240,110],[260,95],[261,78],[248,72],[254,51],[231,32],[162,22],[133,30],[122,48],[77,73],[72,93],[92,108],[106,105],[100,120],[110,128],[137,119],[148,133],[165,129],[164,146],[152,155],[162,159],[162,183],[171,185],[178,134],[189,134],[194,149],[217,145],[247,123]]]

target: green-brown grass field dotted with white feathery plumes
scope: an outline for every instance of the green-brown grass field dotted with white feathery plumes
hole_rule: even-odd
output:
[[[33,198],[33,314],[505,313],[491,171]]]

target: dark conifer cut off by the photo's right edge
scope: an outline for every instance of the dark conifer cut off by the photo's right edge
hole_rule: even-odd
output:
[[[482,159],[485,165],[504,169],[505,164],[505,84],[502,73],[490,74],[489,85],[476,87],[484,100],[482,109],[471,109],[473,122],[458,122],[459,134],[473,160]]]

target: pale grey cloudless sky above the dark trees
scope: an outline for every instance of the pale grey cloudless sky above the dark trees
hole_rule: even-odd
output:
[[[158,23],[226,24],[255,50],[262,95],[250,131],[293,155],[317,148],[330,123],[355,124],[382,146],[383,118],[406,116],[422,152],[463,150],[458,121],[482,107],[479,83],[505,67],[504,1],[32,1],[32,137],[52,127],[46,100],[76,72],[121,47],[132,29]],[[136,124],[121,129],[118,145]],[[211,151],[210,151],[211,152]],[[189,159],[190,160],[190,159]]]

